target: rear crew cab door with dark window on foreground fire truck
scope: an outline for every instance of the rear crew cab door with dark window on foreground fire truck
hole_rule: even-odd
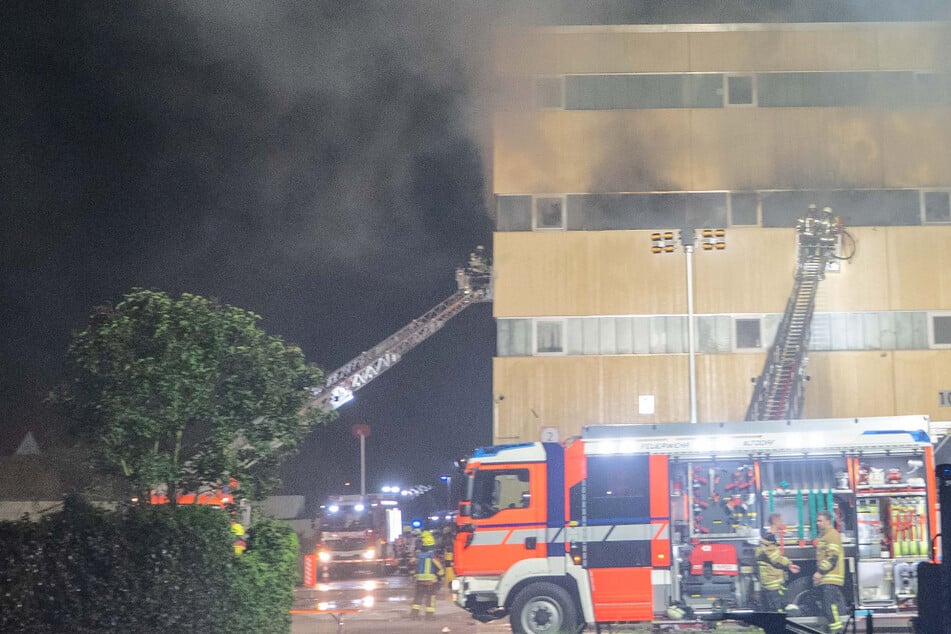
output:
[[[595,619],[645,621],[654,614],[653,571],[670,562],[665,456],[588,455],[570,489],[572,531],[591,580]]]

